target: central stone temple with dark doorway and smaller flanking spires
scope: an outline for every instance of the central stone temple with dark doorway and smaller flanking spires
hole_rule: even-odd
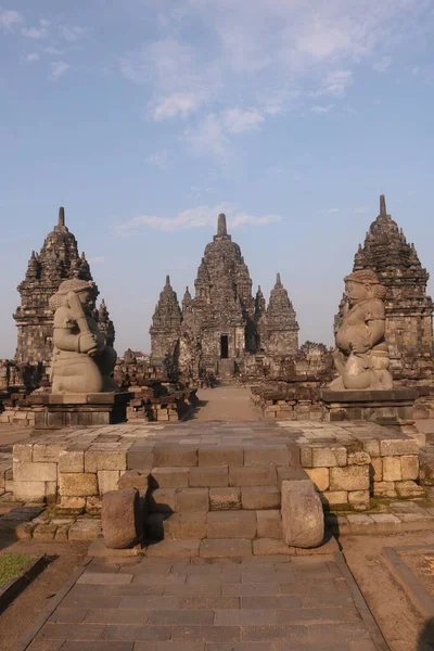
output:
[[[151,333],[153,363],[171,357],[182,372],[213,370],[232,375],[248,355],[296,355],[298,323],[280,275],[268,306],[260,286],[252,295],[252,279],[241,248],[218,216],[217,234],[205,247],[194,281],[180,307],[169,277],[155,307]]]

